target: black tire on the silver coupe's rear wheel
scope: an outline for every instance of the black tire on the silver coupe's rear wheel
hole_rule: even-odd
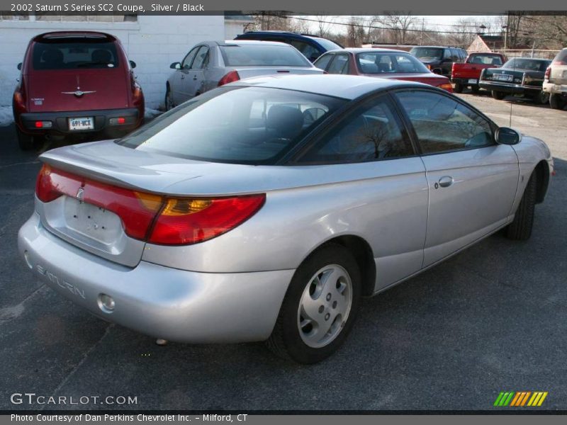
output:
[[[315,285],[315,276],[320,278],[324,275],[324,273],[319,273],[318,275],[317,273],[327,266],[340,266],[340,268],[347,273],[352,284],[352,302],[350,304],[350,310],[346,314],[346,322],[343,322],[342,326],[337,322],[339,326],[335,326],[335,329],[337,329],[335,332],[338,333],[335,334],[334,339],[330,339],[324,346],[314,348],[306,344],[302,338],[301,331],[305,328],[300,329],[299,325],[301,316],[300,305],[304,293],[308,296],[312,296],[315,293],[316,288],[318,288],[318,285]],[[331,274],[330,276],[333,275]],[[324,281],[326,282],[327,280]],[[322,289],[332,288],[332,285],[337,285],[336,288],[339,288],[339,280],[337,280],[337,283],[332,282],[333,280],[330,280],[331,286],[327,287],[319,280]],[[310,292],[311,288],[315,288],[313,289],[313,293]],[[325,290],[324,292],[327,291]],[[324,307],[323,305],[321,305],[321,307],[319,307],[320,310],[318,310],[321,323],[325,324],[324,320],[329,320],[329,322],[327,322],[328,324],[332,322],[332,319],[327,319],[327,317],[330,316],[327,312],[332,313],[332,309],[335,309],[337,302],[331,297],[330,293],[325,295],[324,292],[320,292],[320,297],[315,301],[315,304],[318,302],[328,304],[324,310],[321,310],[321,307]],[[291,358],[291,360],[298,363],[309,364],[322,361],[332,353],[335,353],[347,338],[359,310],[360,298],[361,278],[357,261],[355,261],[352,254],[344,248],[344,246],[334,243],[325,244],[314,251],[313,254],[310,254],[310,256],[301,263],[296,273],[294,273],[286,292],[286,297],[283,299],[276,325],[271,336],[266,341],[266,345],[271,351],[276,353],[277,356],[281,358]],[[325,299],[327,301],[325,301]],[[338,315],[337,319],[339,319]],[[315,324],[318,323],[316,321],[313,322],[315,322]],[[315,327],[315,329],[317,328]],[[330,329],[330,331],[332,331],[332,329]],[[305,335],[308,335],[308,333],[305,333]]]

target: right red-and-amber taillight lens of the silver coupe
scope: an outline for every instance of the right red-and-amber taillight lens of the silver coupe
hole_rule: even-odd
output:
[[[184,245],[203,242],[234,229],[252,217],[266,196],[213,199],[168,199],[148,242]]]

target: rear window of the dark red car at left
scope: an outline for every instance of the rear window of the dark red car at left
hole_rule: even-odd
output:
[[[118,67],[114,42],[35,42],[33,69],[108,69]]]

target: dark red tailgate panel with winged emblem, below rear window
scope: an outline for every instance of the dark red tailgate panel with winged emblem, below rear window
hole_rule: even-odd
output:
[[[128,73],[121,68],[35,71],[26,77],[30,112],[118,109],[130,102]]]

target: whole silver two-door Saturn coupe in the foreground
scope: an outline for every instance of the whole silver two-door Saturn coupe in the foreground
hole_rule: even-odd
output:
[[[553,171],[447,91],[340,75],[237,81],[40,159],[19,249],[45,283],[145,334],[302,363],[362,295],[498,229],[527,239]]]

